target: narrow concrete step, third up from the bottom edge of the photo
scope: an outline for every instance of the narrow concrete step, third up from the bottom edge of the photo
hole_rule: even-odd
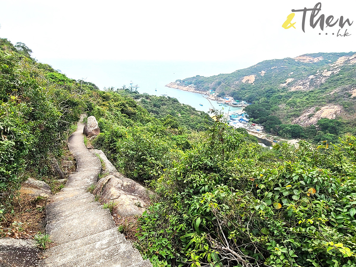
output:
[[[63,245],[59,245],[59,246],[55,246],[55,247],[51,247],[48,248],[45,251],[45,257],[51,257],[54,255],[59,255],[59,254],[63,254],[66,253],[68,251],[72,251],[77,247],[83,247],[83,246],[87,246],[93,243],[96,243],[100,240],[104,240],[104,239],[109,239],[113,236],[117,236],[117,238],[120,238],[122,240],[125,240],[125,236],[120,234],[119,231],[117,230],[117,227],[111,228],[109,230],[103,231],[103,232],[98,232],[94,235],[90,235],[90,236],[86,236],[83,237],[81,239],[72,241],[72,242],[68,242],[66,244]]]

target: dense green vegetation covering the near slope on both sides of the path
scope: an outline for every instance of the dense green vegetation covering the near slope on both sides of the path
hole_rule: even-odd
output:
[[[318,145],[268,150],[220,114],[211,122],[175,99],[100,91],[30,53],[1,40],[1,213],[87,112],[102,131],[93,145],[159,197],[138,219],[136,246],[153,266],[356,266],[356,138],[323,142],[340,121],[310,127],[324,134]],[[262,111],[256,120],[275,116]]]

